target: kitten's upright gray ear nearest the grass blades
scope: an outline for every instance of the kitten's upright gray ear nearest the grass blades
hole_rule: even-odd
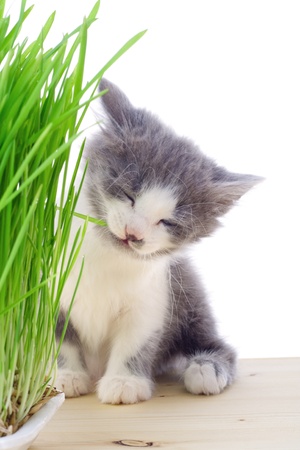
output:
[[[101,103],[111,122],[118,127],[128,124],[130,113],[134,108],[121,89],[106,78],[102,78],[99,90],[108,91],[101,97]]]

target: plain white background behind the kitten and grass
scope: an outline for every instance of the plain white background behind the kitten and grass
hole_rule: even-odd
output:
[[[57,42],[93,4],[36,0],[27,34],[57,10]],[[266,177],[193,252],[241,357],[300,356],[299,24],[291,0],[102,0],[89,34],[87,80],[148,29],[106,77],[221,165]]]

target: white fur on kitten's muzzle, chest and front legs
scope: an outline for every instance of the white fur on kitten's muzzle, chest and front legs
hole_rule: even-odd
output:
[[[80,257],[69,276],[61,298],[67,311],[76,285],[82,257],[84,270],[73,304],[71,319],[84,345],[89,376],[84,377],[80,361],[63,344],[62,356],[71,372],[61,372],[58,382],[67,395],[89,389],[89,380],[99,380],[97,392],[105,403],[135,403],[151,396],[149,380],[128,373],[126,362],[155,332],[163,328],[168,303],[169,257],[137,258],[171,245],[161,219],[172,215],[175,200],[158,188],[129,202],[106,201],[110,231],[125,239],[124,230],[144,239],[145,245],[128,251],[118,248],[106,231],[89,224]],[[81,199],[79,212],[91,215]],[[80,205],[79,205],[80,206]],[[78,221],[75,221],[74,232]],[[67,387],[66,387],[67,386]]]

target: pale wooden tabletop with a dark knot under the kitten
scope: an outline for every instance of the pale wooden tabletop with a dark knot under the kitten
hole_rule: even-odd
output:
[[[136,405],[69,399],[31,450],[146,447],[299,450],[300,358],[241,360],[237,381],[218,396],[193,396],[165,378]]]

